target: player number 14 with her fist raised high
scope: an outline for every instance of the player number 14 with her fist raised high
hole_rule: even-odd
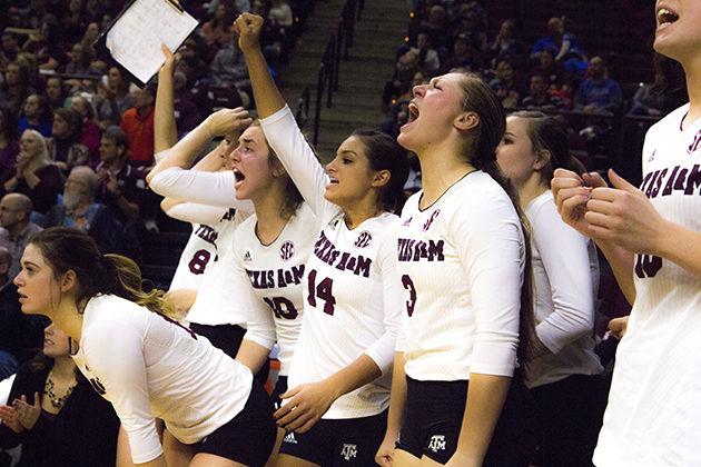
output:
[[[320,230],[306,264],[290,389],[276,413],[289,433],[278,466],[367,466],[385,430],[401,307],[393,211],[403,202],[406,153],[386,136],[358,131],[327,175],[270,78],[261,24],[248,13],[236,21],[263,130]]]

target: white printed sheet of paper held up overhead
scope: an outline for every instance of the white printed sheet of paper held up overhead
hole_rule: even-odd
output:
[[[160,44],[175,51],[197,28],[197,20],[167,0],[136,0],[107,32],[105,44],[112,58],[142,83],[165,61]]]

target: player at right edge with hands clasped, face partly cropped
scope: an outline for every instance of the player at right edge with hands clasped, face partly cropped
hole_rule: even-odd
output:
[[[701,3],[658,1],[654,49],[681,63],[690,102],[645,136],[643,181],[557,170],[563,220],[605,255],[633,309],[616,351],[594,464],[701,464]],[[623,330],[622,328],[620,330]]]

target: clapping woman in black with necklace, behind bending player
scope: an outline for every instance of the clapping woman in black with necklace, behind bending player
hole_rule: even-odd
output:
[[[0,406],[0,447],[21,444],[18,467],[115,465],[119,419],[76,368],[77,348],[47,327],[43,351],[20,367]]]

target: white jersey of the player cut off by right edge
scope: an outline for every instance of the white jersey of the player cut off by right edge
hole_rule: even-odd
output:
[[[645,136],[641,190],[669,221],[701,231],[701,119],[689,105]],[[594,463],[701,465],[701,278],[674,262],[635,255],[635,304],[616,351]]]

